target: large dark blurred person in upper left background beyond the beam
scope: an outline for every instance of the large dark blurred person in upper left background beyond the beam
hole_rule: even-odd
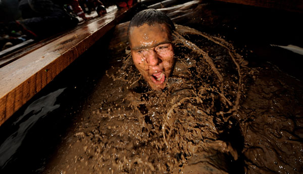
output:
[[[23,19],[10,22],[9,28],[36,38],[75,27],[79,20],[64,9],[65,4],[71,5],[83,20],[88,19],[77,0],[21,0],[19,9]]]

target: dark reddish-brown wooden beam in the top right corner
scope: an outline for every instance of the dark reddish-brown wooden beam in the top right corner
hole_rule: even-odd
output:
[[[303,13],[302,0],[215,0],[227,3],[243,4],[248,6],[281,9]]]

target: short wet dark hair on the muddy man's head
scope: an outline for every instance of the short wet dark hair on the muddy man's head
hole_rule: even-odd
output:
[[[166,24],[170,32],[175,30],[175,25],[171,19],[163,12],[156,9],[146,9],[142,10],[131,19],[127,35],[129,38],[129,30],[131,27],[139,27],[143,24],[153,25],[153,24]]]

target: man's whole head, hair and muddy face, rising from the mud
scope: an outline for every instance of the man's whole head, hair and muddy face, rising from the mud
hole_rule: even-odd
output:
[[[173,22],[163,12],[147,9],[130,21],[128,38],[136,68],[154,90],[163,90],[174,68]]]

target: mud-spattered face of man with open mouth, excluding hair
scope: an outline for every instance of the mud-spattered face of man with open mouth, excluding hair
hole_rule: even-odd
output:
[[[172,37],[165,24],[131,27],[130,48],[133,62],[154,90],[163,90],[174,66]]]

